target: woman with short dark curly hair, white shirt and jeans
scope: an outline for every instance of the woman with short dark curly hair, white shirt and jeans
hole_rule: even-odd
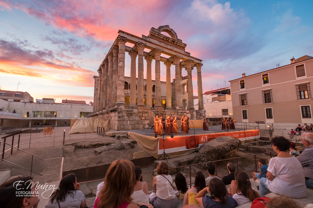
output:
[[[292,198],[305,197],[305,178],[301,164],[287,152],[290,141],[282,136],[275,136],[272,145],[277,156],[270,159],[266,178],[260,179],[260,196],[272,191]]]

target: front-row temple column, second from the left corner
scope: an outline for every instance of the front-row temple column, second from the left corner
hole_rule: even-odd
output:
[[[138,83],[137,83],[137,106],[144,107],[143,94],[144,94],[144,85],[143,85],[143,50],[145,45],[142,42],[136,44],[138,49]]]

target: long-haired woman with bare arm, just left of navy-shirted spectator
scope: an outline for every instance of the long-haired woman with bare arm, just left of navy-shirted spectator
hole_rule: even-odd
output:
[[[196,201],[196,195],[199,191],[204,189],[206,187],[205,185],[205,178],[201,171],[197,172],[196,178],[195,178],[195,184],[191,189],[188,189],[188,191],[185,194],[183,206],[186,205],[198,205]]]

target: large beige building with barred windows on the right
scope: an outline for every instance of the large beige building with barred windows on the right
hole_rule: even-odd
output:
[[[264,121],[280,129],[313,123],[313,57],[292,58],[289,65],[229,82],[236,122]]]

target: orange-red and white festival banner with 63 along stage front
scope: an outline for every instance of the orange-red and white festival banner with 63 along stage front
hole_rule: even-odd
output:
[[[254,141],[260,138],[259,130],[246,130],[246,131],[233,131],[233,132],[220,132],[213,134],[201,134],[201,135],[188,135],[188,136],[175,136],[165,137],[165,153],[172,153],[178,151],[184,151],[200,147],[202,144],[211,141],[214,138],[220,136],[232,136],[239,139],[242,142]],[[163,138],[159,138],[158,142],[158,154],[163,153]]]

